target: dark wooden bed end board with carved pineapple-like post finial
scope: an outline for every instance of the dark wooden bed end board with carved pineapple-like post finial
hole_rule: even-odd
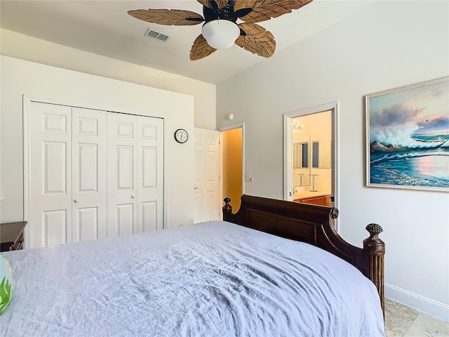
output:
[[[379,292],[384,310],[385,244],[378,234],[382,227],[375,223],[366,226],[370,237],[363,240],[363,249],[352,246],[335,231],[335,207],[302,204],[243,194],[237,213],[232,213],[231,199],[225,198],[223,220],[279,237],[307,242],[346,260],[368,277]]]

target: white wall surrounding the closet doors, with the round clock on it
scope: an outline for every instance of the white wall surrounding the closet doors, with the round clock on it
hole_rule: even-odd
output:
[[[194,223],[194,142],[179,144],[173,138],[177,128],[194,134],[192,96],[6,56],[0,60],[0,181],[6,195],[0,201],[2,223],[23,216],[22,95],[48,103],[163,117],[166,224]]]

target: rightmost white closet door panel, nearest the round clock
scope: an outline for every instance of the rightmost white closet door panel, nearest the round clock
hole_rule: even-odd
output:
[[[163,119],[138,117],[138,232],[163,228]]]

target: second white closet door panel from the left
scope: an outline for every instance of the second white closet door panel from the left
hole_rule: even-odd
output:
[[[107,112],[72,108],[72,241],[107,237]]]

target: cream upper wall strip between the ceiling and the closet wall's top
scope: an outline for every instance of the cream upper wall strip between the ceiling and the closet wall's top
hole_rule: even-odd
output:
[[[195,126],[215,130],[215,84],[1,29],[1,55],[194,96]]]

